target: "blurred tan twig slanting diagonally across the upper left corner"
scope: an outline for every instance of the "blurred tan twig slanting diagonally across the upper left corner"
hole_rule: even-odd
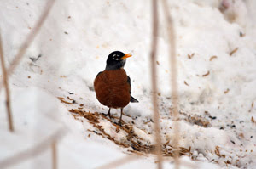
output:
[[[28,37],[26,38],[26,41],[20,47],[18,54],[15,56],[15,59],[9,65],[9,68],[7,70],[7,76],[11,76],[16,66],[20,64],[22,57],[24,56],[24,54],[26,54],[26,49],[31,45],[35,37],[38,35],[38,32],[40,31],[42,25],[44,24],[44,21],[47,19],[47,16],[49,15],[49,11],[53,7],[54,3],[55,3],[55,0],[49,0],[46,3],[43,14],[40,16],[37,24],[32,29]],[[0,82],[0,93],[1,93],[2,87],[3,87],[3,81]]]

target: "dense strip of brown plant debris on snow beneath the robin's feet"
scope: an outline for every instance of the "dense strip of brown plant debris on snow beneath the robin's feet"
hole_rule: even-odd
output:
[[[118,144],[119,146],[131,148],[132,150],[129,151],[132,153],[154,153],[155,145],[145,142],[144,138],[138,136],[137,133],[135,133],[134,127],[131,124],[125,123],[125,121],[122,121],[123,125],[119,126],[112,121],[113,119],[116,119],[115,117],[113,117],[113,119],[110,120],[103,114],[97,112],[91,113],[79,109],[71,109],[69,110],[69,112],[75,115],[76,119],[78,119],[78,117],[87,119],[88,122],[96,128],[96,130],[88,130],[89,132],[96,133],[97,135],[100,135],[103,138],[108,138],[109,140],[113,141],[115,144]],[[121,131],[125,132],[126,138],[118,140],[111,133],[106,132],[105,128],[101,125],[100,122],[106,120],[111,122],[111,125],[113,126],[117,134]],[[174,150],[178,151],[180,155],[190,155],[190,149],[191,148],[185,149],[183,147],[180,147],[179,149],[173,149],[172,145],[169,142],[166,142],[166,144],[162,144],[162,151],[164,156],[173,156]]]

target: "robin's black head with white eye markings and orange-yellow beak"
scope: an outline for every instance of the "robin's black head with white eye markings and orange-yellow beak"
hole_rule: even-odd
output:
[[[125,66],[126,58],[131,57],[131,54],[124,54],[120,51],[114,51],[108,55],[107,65],[105,70],[118,70]]]

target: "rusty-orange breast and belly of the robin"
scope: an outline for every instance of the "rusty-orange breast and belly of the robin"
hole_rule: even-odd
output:
[[[123,108],[130,102],[131,87],[124,69],[104,70],[94,81],[96,98],[109,108]]]

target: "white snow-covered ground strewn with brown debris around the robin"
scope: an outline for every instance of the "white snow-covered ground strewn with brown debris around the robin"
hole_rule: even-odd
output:
[[[160,1],[159,1],[160,2]],[[0,1],[0,33],[9,65],[46,1]],[[168,1],[175,23],[180,147],[183,168],[256,167],[256,2]],[[166,23],[160,8],[157,54],[161,138],[172,168],[172,98]],[[119,168],[155,168],[150,84],[151,3],[57,0],[10,79],[15,132],[0,104],[0,168],[49,168],[50,149],[13,166],[7,160],[64,131],[60,168],[96,168],[126,155]],[[125,107],[124,127],[102,113],[93,89],[114,50],[132,53],[125,70],[138,104]],[[0,76],[2,80],[3,76]],[[68,98],[67,98],[68,97]],[[59,99],[58,99],[59,98]],[[61,103],[65,99],[68,103]],[[90,113],[89,113],[90,112]],[[119,110],[112,114],[119,117]],[[188,165],[189,164],[189,165]]]

